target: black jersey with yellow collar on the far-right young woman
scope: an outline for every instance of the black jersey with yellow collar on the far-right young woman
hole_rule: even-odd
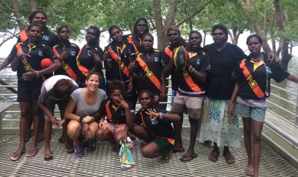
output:
[[[281,81],[288,78],[290,75],[287,71],[283,70],[278,62],[271,63],[268,60],[268,56],[263,53],[263,60],[255,63],[251,60],[250,56],[247,56],[246,60],[240,62],[240,65],[245,64],[249,73],[252,75],[252,81],[247,80],[243,74],[243,69],[240,65],[236,66],[231,78],[234,79],[239,85],[238,96],[242,99],[261,99],[256,96],[252,88],[260,87],[265,97],[270,96],[270,79],[273,78],[275,81],[280,83]],[[243,63],[245,62],[245,63]],[[242,63],[242,64],[241,64]],[[268,82],[266,81],[268,79]],[[254,84],[256,83],[256,85]],[[265,94],[266,87],[268,86],[268,95]]]

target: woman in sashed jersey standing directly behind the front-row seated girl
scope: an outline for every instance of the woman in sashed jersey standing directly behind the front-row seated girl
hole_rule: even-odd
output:
[[[134,47],[128,42],[118,26],[109,27],[109,37],[112,42],[105,47],[105,76],[107,78],[106,91],[109,92],[109,83],[111,81],[120,80],[125,85],[123,96],[132,102],[132,78],[128,71],[128,65],[134,60]]]

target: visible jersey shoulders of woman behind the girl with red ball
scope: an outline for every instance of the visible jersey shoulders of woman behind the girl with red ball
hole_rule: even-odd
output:
[[[21,35],[23,35],[24,37],[21,37]],[[17,43],[24,42],[25,40],[27,40],[25,35],[25,30],[21,31],[19,37],[17,38]],[[42,44],[46,44],[49,45],[49,47],[53,47],[55,44],[58,44],[58,42],[59,37],[52,31],[50,31],[48,27],[45,26],[44,31],[42,31]]]

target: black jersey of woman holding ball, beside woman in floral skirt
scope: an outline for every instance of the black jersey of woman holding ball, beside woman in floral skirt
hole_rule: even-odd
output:
[[[198,49],[196,53],[191,53],[190,51],[188,51],[188,54],[190,58],[189,64],[192,65],[195,70],[200,72],[207,72],[208,74],[209,72],[211,72],[209,55],[202,48]],[[186,78],[188,76],[190,76],[193,83],[195,83],[195,85],[198,85],[198,87],[200,87],[200,90],[202,90],[202,92],[198,92],[198,94],[204,93],[204,91],[206,90],[206,83],[202,83],[198,79],[194,78],[193,74],[189,72],[188,68],[186,68],[185,72],[179,71],[179,91],[183,92],[184,94],[193,94],[195,92],[191,88],[191,85],[186,82]]]

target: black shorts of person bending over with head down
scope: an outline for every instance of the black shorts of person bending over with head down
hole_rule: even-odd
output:
[[[55,101],[55,100],[48,98],[44,102],[44,105],[46,106],[46,108],[48,108],[51,111],[52,115],[54,115],[55,104],[57,104],[58,108],[60,110],[60,117],[61,117],[61,119],[63,119],[65,109],[67,108],[67,104],[69,103],[69,99],[70,99],[70,96],[67,96],[65,99],[63,99],[61,101]],[[44,118],[46,118],[46,115],[44,115]]]

